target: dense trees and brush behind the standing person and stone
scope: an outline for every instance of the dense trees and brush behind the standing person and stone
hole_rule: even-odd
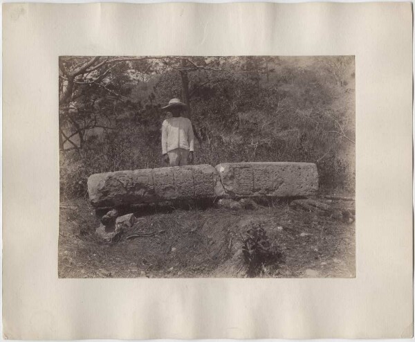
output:
[[[61,199],[91,174],[158,168],[160,108],[190,105],[196,164],[306,161],[355,189],[355,64],[324,57],[59,57]]]

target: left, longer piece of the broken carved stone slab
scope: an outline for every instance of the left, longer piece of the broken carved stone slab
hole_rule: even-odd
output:
[[[212,165],[187,165],[93,174],[88,192],[95,208],[116,208],[174,199],[208,199],[224,190]]]

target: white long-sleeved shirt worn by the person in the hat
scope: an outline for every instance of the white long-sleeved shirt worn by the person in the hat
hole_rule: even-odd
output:
[[[193,151],[192,122],[181,116],[164,120],[163,125],[161,125],[161,148],[163,154],[176,148]]]

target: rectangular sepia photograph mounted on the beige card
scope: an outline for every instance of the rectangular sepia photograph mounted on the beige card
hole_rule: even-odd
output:
[[[355,58],[60,56],[59,278],[355,278]]]

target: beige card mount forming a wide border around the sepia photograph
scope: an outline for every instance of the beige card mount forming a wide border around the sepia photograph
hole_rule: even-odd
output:
[[[58,279],[59,55],[356,55],[356,278]],[[8,339],[412,336],[410,3],[3,5]]]

